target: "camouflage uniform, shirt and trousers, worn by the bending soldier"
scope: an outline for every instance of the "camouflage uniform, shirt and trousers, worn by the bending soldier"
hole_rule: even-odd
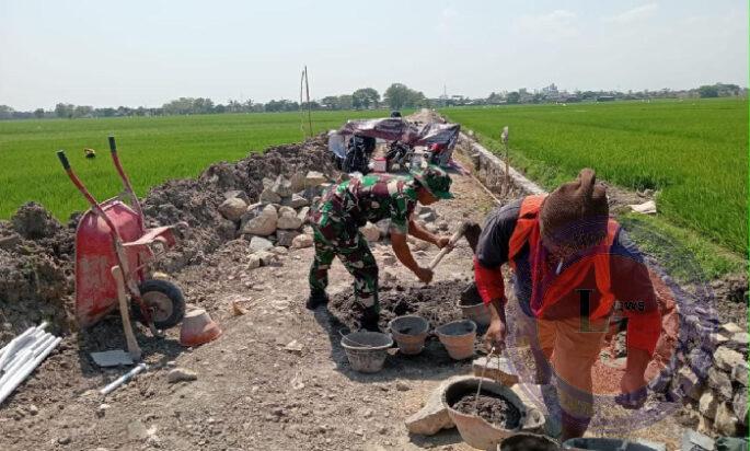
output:
[[[406,234],[417,205],[411,176],[372,174],[353,177],[326,192],[310,211],[315,257],[310,268],[310,291],[325,296],[328,268],[335,256],[355,278],[355,297],[370,315],[377,315],[378,265],[359,228],[367,221],[391,219],[391,231]]]

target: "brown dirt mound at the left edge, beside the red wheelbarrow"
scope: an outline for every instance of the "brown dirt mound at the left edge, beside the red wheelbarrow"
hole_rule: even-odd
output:
[[[73,246],[73,230],[35,203],[0,222],[0,343],[42,321],[70,328]]]

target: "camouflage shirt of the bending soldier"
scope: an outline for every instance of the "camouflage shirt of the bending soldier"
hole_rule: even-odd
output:
[[[314,219],[327,217],[326,222],[351,220],[356,227],[362,227],[367,221],[374,223],[390,218],[391,231],[406,234],[409,217],[417,205],[412,180],[411,176],[390,174],[353,177],[323,196]]]

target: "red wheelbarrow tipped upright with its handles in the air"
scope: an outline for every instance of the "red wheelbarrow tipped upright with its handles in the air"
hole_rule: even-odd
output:
[[[147,324],[154,336],[180,324],[185,315],[185,300],[180,288],[149,276],[155,258],[175,245],[175,230],[187,228],[187,224],[180,222],[146,229],[143,211],[119,162],[112,136],[109,150],[125,189],[120,196],[102,204],[78,178],[65,151],[57,152],[73,185],[91,205],[76,229],[76,319],[81,328],[85,328],[119,307],[128,352],[138,360],[141,351],[132,333],[130,312]]]

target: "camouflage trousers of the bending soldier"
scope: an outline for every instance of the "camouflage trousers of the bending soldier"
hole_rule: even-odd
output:
[[[332,227],[334,224],[327,224]],[[310,267],[310,292],[321,293],[328,286],[328,268],[334,257],[354,276],[354,293],[357,302],[364,308],[379,310],[378,303],[378,264],[370,252],[367,240],[359,231],[350,233],[351,240],[337,241],[334,245],[326,240],[320,227],[312,224],[315,245],[315,257]],[[355,229],[356,230],[356,229]],[[330,233],[325,233],[330,235]],[[342,234],[339,234],[342,236]]]

